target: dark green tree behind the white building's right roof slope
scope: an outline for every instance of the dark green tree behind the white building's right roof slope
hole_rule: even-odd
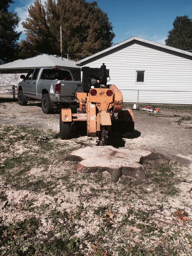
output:
[[[173,29],[168,31],[165,43],[185,51],[192,50],[192,19],[187,15],[177,16],[173,22]]]

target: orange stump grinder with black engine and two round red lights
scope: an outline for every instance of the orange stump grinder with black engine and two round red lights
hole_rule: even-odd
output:
[[[87,126],[87,136],[99,137],[97,145],[107,143],[108,132],[119,133],[130,138],[134,131],[134,117],[130,109],[123,109],[123,97],[115,85],[107,84],[109,70],[101,68],[82,67],[83,92],[74,92],[79,104],[78,113],[72,113],[70,108],[61,109],[60,138],[69,139],[78,130]],[[110,80],[110,79],[109,79]],[[112,133],[111,133],[112,134]]]

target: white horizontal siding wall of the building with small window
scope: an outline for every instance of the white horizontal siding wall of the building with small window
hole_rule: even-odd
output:
[[[85,66],[102,63],[124,102],[136,102],[139,90],[140,103],[192,104],[192,60],[135,43]],[[139,70],[145,71],[145,83],[135,82]]]

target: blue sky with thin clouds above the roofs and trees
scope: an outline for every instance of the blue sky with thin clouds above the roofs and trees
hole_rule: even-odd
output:
[[[27,7],[34,0],[14,0],[10,10],[21,17],[27,17]],[[44,2],[42,0],[41,2]],[[88,0],[88,2],[92,2]],[[115,33],[114,43],[119,43],[132,36],[141,37],[159,43],[165,43],[168,31],[173,28],[176,16],[188,15],[192,18],[192,0],[98,0],[98,6],[107,12]],[[23,27],[20,23],[18,31]],[[21,38],[25,37],[22,33]]]

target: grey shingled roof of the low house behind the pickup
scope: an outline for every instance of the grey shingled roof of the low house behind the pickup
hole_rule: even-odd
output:
[[[40,54],[35,57],[18,59],[6,64],[0,65],[0,70],[5,69],[29,69],[36,67],[59,67],[65,69],[80,69],[74,64],[74,61],[61,58],[57,55]]]

